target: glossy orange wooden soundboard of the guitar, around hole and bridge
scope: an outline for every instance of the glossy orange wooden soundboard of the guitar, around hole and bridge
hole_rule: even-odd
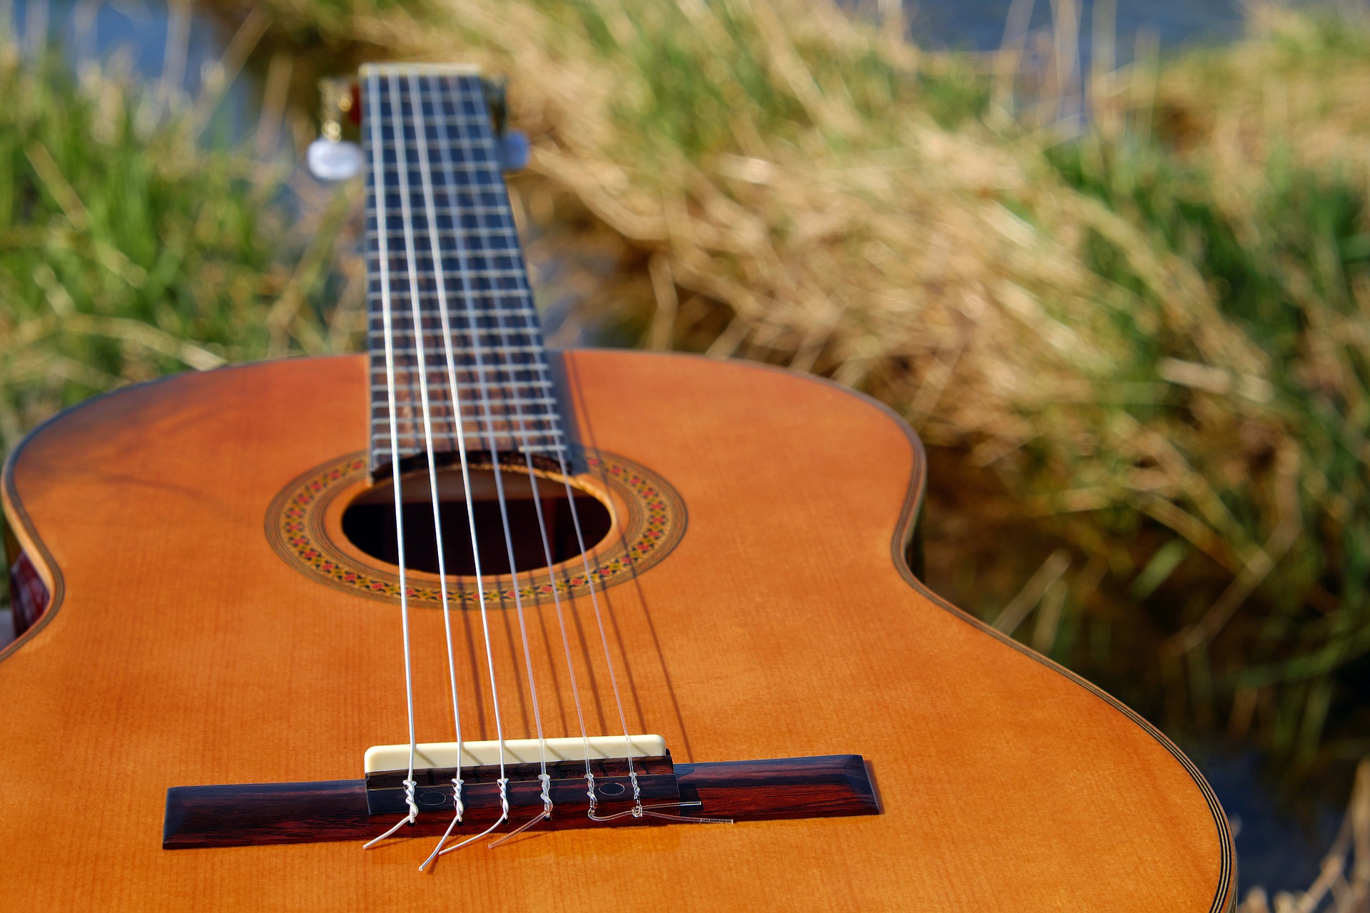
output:
[[[338,531],[370,485],[366,361],[285,360],[93,400],[12,454],[10,530],[51,602],[0,653],[0,908],[1230,908],[1193,765],[914,579],[923,457],[892,413],[758,365],[562,363],[578,482],[614,519],[595,554],[629,728],[677,764],[860,754],[878,814],[534,828],[426,873],[430,838],[163,849],[171,787],[356,779],[367,746],[407,738],[399,605]],[[614,732],[569,595],[581,698]],[[451,739],[443,612],[410,612],[419,739]],[[544,728],[574,734],[552,608],[526,612]],[[453,615],[466,738],[493,739],[478,613]],[[529,738],[514,615],[492,617],[504,735]]]

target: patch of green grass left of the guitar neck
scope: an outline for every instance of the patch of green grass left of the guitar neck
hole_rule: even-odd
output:
[[[77,78],[7,37],[0,94],[7,450],[122,383],[353,344],[322,304],[341,204],[311,209],[279,160],[216,141],[222,92],[137,86],[118,62]]]

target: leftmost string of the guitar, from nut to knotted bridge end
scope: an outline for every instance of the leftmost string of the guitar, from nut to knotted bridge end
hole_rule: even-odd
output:
[[[396,419],[395,404],[395,331],[390,319],[390,260],[389,240],[386,237],[386,209],[385,205],[385,148],[381,142],[381,88],[379,79],[371,74],[367,94],[371,99],[371,164],[373,189],[375,196],[377,237],[379,240],[378,260],[381,264],[381,315],[385,333],[385,393],[390,411],[390,486],[395,489],[395,541],[400,563],[400,628],[404,634],[404,702],[410,720],[410,772],[404,777],[404,801],[410,806],[407,817],[395,823],[389,831],[367,842],[362,849],[369,850],[385,838],[400,830],[404,824],[414,824],[419,814],[418,802],[414,799],[414,790],[418,783],[414,780],[414,673],[410,664],[410,598],[408,584],[404,575],[404,515],[403,494],[400,489],[400,433]],[[397,156],[397,157],[403,157]]]

